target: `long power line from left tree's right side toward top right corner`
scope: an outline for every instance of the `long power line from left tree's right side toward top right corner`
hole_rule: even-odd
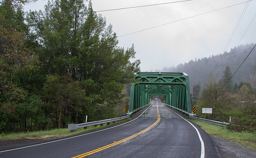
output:
[[[250,1],[253,1],[253,0],[250,0]],[[248,1],[246,1],[246,2],[248,2]],[[234,5],[232,5],[232,6],[227,6],[227,7],[224,7],[224,8],[212,10],[212,11],[210,11],[210,12],[205,12],[205,13],[202,13],[202,14],[197,14],[197,15],[195,15],[195,16],[190,16],[190,17],[188,17],[188,18],[184,18],[184,19],[180,19],[180,20],[173,21],[173,22],[168,22],[168,23],[166,23],[166,24],[162,24],[162,25],[158,25],[158,26],[151,27],[151,28],[147,28],[147,29],[144,29],[144,30],[132,32],[132,33],[130,33],[130,34],[125,34],[125,35],[122,35],[122,36],[118,36],[118,38],[123,37],[123,36],[127,36],[127,35],[131,35],[131,34],[135,34],[135,33],[138,33],[138,32],[142,32],[142,31],[150,30],[150,29],[152,29],[152,28],[157,28],[157,27],[160,27],[160,26],[164,26],[164,25],[167,25],[167,24],[172,24],[172,23],[174,23],[174,22],[179,22],[179,21],[186,20],[186,19],[189,19],[189,18],[194,18],[194,17],[196,17],[196,16],[208,14],[208,13],[215,12],[215,11],[218,11],[218,10],[230,8],[230,7],[233,7],[233,6],[237,6],[237,5],[240,5],[240,4],[244,4],[244,3],[246,3],[246,2],[241,2],[241,3],[238,3],[238,4],[234,4]]]

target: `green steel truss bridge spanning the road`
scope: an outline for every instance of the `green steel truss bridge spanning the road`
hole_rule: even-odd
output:
[[[150,103],[150,95],[165,95],[166,104],[187,115],[192,113],[190,85],[186,73],[139,72],[132,83],[129,113],[134,114]],[[182,112],[183,111],[183,112]]]

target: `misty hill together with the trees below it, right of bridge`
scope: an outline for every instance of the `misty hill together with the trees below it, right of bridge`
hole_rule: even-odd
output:
[[[189,75],[190,85],[193,84],[190,88],[191,104],[196,106],[196,116],[222,122],[229,122],[231,117],[229,129],[256,134],[255,64],[256,51],[252,43],[240,45],[223,55],[191,60],[162,71],[179,71]],[[212,108],[212,114],[205,115],[202,108]]]

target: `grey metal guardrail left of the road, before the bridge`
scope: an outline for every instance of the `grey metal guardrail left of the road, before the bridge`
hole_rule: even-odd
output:
[[[93,126],[93,125],[98,125],[98,124],[103,124],[103,123],[108,123],[108,122],[114,122],[114,121],[126,119],[128,117],[130,117],[130,115],[126,115],[126,116],[123,116],[123,117],[116,117],[116,118],[113,118],[113,119],[106,119],[106,120],[80,123],[80,124],[68,124],[68,130],[77,130],[78,128],[83,128],[83,127],[87,127],[87,126]]]

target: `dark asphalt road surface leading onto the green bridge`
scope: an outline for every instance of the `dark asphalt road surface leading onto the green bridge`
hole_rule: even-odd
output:
[[[1,150],[4,158],[218,158],[210,135],[159,100],[137,119],[75,137]]]

